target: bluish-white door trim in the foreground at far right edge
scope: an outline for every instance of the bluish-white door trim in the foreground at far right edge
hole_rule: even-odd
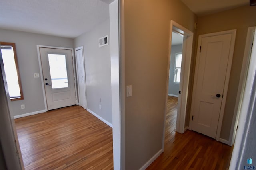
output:
[[[256,30],[255,30],[256,31]],[[256,34],[254,35],[254,44],[256,44]],[[240,121],[236,135],[236,143],[232,152],[229,169],[240,169],[244,167],[245,156],[253,156],[251,152],[255,150],[255,142],[250,140],[255,134],[253,123],[255,120],[255,111],[252,109],[255,104],[255,78],[256,78],[256,46],[252,47],[248,73],[242,99]],[[248,158],[248,157],[246,157]],[[254,157],[253,157],[254,158]]]

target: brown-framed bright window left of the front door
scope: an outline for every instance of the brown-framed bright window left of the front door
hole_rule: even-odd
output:
[[[15,43],[0,42],[4,71],[11,101],[22,100],[23,93]]]

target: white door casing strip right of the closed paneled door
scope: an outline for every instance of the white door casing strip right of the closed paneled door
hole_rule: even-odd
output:
[[[250,58],[251,58],[250,53],[252,51],[252,43],[254,38],[253,33],[255,33],[255,26],[248,27],[246,44],[244,48],[244,58],[243,58],[240,80],[239,80],[239,85],[238,85],[238,90],[236,95],[236,105],[234,109],[234,116],[232,119],[231,131],[230,131],[229,140],[228,140],[228,145],[230,146],[234,145],[235,136],[236,136],[236,127],[238,126],[239,115],[241,113],[244,89],[246,85],[246,78],[248,75],[248,69],[249,69]]]

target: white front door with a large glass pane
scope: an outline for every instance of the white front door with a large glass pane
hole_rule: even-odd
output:
[[[75,105],[72,50],[39,49],[48,110]]]

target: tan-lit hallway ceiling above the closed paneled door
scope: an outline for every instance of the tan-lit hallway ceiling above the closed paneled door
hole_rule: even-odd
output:
[[[239,6],[249,5],[249,0],[181,0],[198,16],[204,16]]]

